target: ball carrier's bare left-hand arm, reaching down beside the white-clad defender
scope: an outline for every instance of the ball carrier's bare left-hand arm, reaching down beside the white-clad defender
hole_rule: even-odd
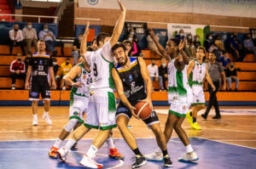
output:
[[[121,100],[121,102],[123,104],[125,104],[125,106],[127,108],[129,108],[131,110],[132,115],[137,117],[137,115],[135,115],[135,113],[134,113],[134,110],[136,110],[136,109],[135,109],[135,107],[133,107],[130,104],[129,100],[126,98],[125,93],[124,93],[123,83],[122,83],[122,81],[119,77],[118,72],[115,69],[112,69],[112,77],[113,77],[113,82],[114,82],[114,85],[116,87],[117,93],[119,95],[119,99]]]

